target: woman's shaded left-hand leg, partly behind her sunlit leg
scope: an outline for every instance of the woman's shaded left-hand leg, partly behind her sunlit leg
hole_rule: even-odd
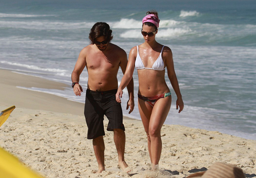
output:
[[[148,133],[148,126],[149,126],[150,116],[153,108],[150,105],[148,105],[146,102],[144,102],[142,99],[138,100],[138,107],[139,107],[139,113],[140,113],[140,117],[145,129],[145,132],[147,133],[148,152],[149,152],[150,160],[152,163],[151,151],[150,151],[151,141]]]

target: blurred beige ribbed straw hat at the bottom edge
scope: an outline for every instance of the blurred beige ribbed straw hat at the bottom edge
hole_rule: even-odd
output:
[[[214,163],[207,171],[194,173],[187,178],[245,178],[241,168],[233,164]]]

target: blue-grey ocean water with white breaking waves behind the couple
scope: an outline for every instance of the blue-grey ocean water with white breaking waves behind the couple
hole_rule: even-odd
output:
[[[89,44],[94,23],[109,23],[113,43],[129,50],[140,43],[142,18],[157,10],[161,20],[157,41],[173,52],[184,111],[172,107],[165,124],[218,130],[256,140],[256,1],[253,0],[140,0],[0,2],[0,68],[71,85],[71,72],[80,50]],[[123,74],[118,72],[118,81]],[[0,76],[4,77],[4,76]],[[87,88],[87,71],[80,84]],[[124,115],[140,119],[138,75],[133,74],[135,110]],[[17,86],[19,87],[19,86]],[[24,88],[24,87],[23,87]],[[76,102],[71,87],[47,92]],[[83,108],[81,108],[83,109]]]

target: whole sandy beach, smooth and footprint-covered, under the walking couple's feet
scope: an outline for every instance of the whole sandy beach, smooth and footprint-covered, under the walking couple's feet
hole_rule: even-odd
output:
[[[98,165],[92,140],[86,139],[84,105],[17,88],[61,90],[69,86],[2,69],[0,76],[0,110],[16,106],[0,128],[0,147],[46,178],[184,178],[215,162],[236,164],[246,177],[256,177],[256,140],[181,125],[163,125],[160,171],[152,172],[142,122],[127,117],[124,117],[125,160],[133,171],[128,175],[117,167],[113,132],[105,131],[106,171],[96,175]]]

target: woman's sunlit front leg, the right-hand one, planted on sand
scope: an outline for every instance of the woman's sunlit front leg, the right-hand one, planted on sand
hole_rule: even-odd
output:
[[[159,99],[153,107],[150,122],[148,125],[148,133],[151,140],[151,162],[152,168],[157,168],[161,152],[162,152],[162,139],[161,139],[161,128],[166,120],[172,103],[171,96]]]

